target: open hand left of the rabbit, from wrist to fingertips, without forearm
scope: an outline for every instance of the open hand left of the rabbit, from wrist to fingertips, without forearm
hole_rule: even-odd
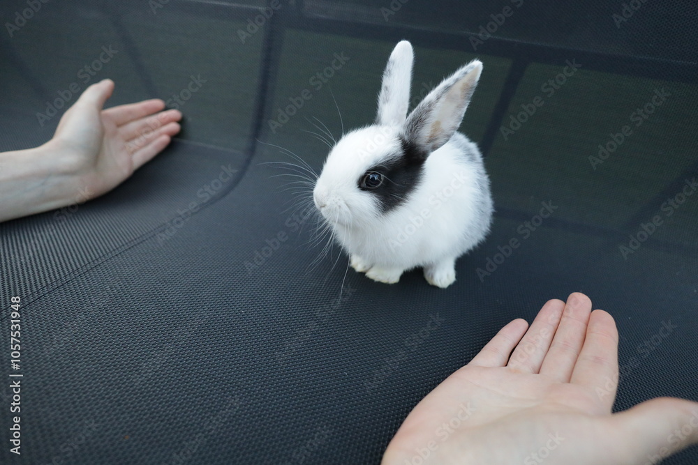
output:
[[[162,100],[102,109],[113,91],[110,79],[89,86],[63,115],[51,141],[54,156],[66,159],[66,169],[78,176],[89,197],[119,185],[179,132],[181,113],[161,112]]]

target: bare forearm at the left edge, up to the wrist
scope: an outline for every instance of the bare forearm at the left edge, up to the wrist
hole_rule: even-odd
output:
[[[80,202],[72,165],[52,142],[0,153],[0,222]]]

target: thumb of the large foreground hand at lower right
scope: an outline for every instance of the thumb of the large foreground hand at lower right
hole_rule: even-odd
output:
[[[642,402],[612,417],[626,437],[632,464],[653,465],[698,444],[698,403],[672,397]]]

